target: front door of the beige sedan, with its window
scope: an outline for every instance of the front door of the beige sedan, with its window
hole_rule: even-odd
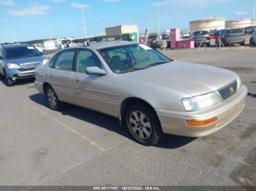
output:
[[[86,74],[88,67],[99,67],[105,70],[97,55],[88,49],[80,49],[77,53],[73,81],[76,83],[75,96],[79,106],[98,112],[113,115],[111,101],[111,76]]]

